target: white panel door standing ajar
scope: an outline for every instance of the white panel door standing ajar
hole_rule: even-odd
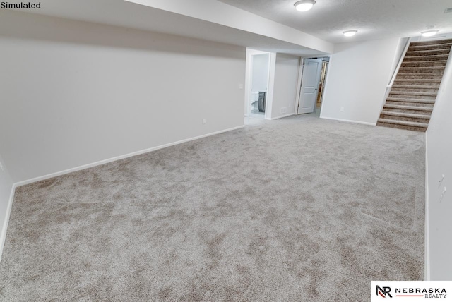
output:
[[[321,59],[304,59],[302,89],[299,93],[298,114],[314,112],[322,68]]]

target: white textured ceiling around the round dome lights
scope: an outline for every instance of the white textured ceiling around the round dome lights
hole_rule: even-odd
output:
[[[452,32],[452,0],[316,0],[301,13],[297,0],[219,0],[332,43],[413,37],[434,28]],[[346,38],[345,30],[358,30]]]

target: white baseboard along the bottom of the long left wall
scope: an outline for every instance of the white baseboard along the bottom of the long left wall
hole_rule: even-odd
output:
[[[143,153],[152,152],[152,151],[159,150],[159,149],[162,149],[162,148],[165,148],[165,147],[179,145],[179,144],[182,144],[182,143],[189,142],[191,140],[198,140],[200,138],[206,138],[206,137],[211,136],[211,135],[216,135],[216,134],[224,133],[224,132],[227,132],[227,131],[233,131],[233,130],[237,130],[237,129],[240,129],[240,128],[244,128],[244,125],[233,127],[233,128],[228,128],[228,129],[225,129],[225,130],[216,131],[216,132],[212,132],[212,133],[208,133],[208,134],[199,135],[199,136],[196,136],[194,138],[187,138],[185,140],[178,140],[177,142],[167,143],[165,145],[160,145],[160,146],[157,146],[157,147],[150,147],[150,148],[145,149],[145,150],[131,152],[131,153],[126,154],[126,155],[119,155],[117,157],[112,157],[112,158],[109,158],[109,159],[103,159],[103,160],[100,160],[99,162],[93,162],[91,164],[83,164],[82,166],[78,166],[78,167],[71,168],[71,169],[66,169],[64,171],[59,171],[59,172],[47,174],[47,175],[44,175],[44,176],[35,177],[34,179],[28,179],[26,181],[19,181],[18,183],[15,183],[14,185],[16,187],[28,185],[29,183],[35,183],[36,181],[43,181],[45,179],[51,179],[51,178],[56,177],[56,176],[61,176],[61,175],[64,175],[64,174],[72,173],[72,172],[75,172],[75,171],[80,171],[80,170],[83,170],[83,169],[88,169],[88,168],[91,168],[91,167],[99,166],[101,164],[107,164],[109,162],[114,162],[114,161],[117,161],[119,159],[124,159],[124,158],[128,158],[128,157],[133,157],[133,156],[136,156],[136,155],[141,155]]]

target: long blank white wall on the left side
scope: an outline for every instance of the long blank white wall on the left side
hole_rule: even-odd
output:
[[[244,47],[0,14],[0,153],[14,182],[244,124]]]

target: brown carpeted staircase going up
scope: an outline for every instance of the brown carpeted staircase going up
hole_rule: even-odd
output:
[[[377,126],[427,131],[452,39],[412,42]]]

